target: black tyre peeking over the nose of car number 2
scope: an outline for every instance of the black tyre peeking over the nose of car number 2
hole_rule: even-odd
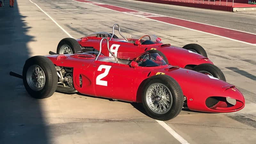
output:
[[[200,65],[195,66],[192,70],[205,73],[205,74],[211,74],[213,77],[216,77],[220,80],[226,81],[226,78],[223,74],[223,72],[218,68],[217,66],[209,63],[203,63]]]

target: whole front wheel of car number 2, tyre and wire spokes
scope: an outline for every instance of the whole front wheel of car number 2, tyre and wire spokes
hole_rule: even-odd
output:
[[[162,121],[172,119],[183,106],[180,85],[170,76],[152,76],[145,81],[142,104],[150,117]]]

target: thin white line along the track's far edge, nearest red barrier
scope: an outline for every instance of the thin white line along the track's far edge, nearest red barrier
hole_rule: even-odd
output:
[[[129,0],[133,1],[134,0]],[[204,11],[212,11],[212,12],[224,12],[224,13],[229,13],[229,14],[239,14],[239,15],[246,15],[246,16],[256,16],[256,15],[250,15],[250,14],[243,14],[243,13],[237,13],[237,12],[225,12],[225,11],[218,11],[218,10],[209,10],[209,9],[203,9],[203,8],[195,8],[195,7],[187,7],[187,6],[180,6],[180,5],[172,5],[172,4],[160,4],[160,3],[152,3],[152,2],[143,2],[143,1],[136,1],[136,2],[141,2],[141,3],[149,3],[149,4],[159,4],[159,5],[165,5],[165,6],[170,6],[170,7],[182,7],[182,8],[188,8],[188,9],[197,9],[197,10],[204,10]]]

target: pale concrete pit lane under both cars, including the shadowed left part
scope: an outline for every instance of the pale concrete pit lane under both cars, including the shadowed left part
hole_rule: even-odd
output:
[[[245,108],[230,114],[182,110],[166,123],[189,143],[255,142],[255,46],[74,1],[32,1],[75,38],[111,32],[113,24],[119,23],[125,36],[153,33],[177,46],[201,44],[227,81],[244,94]],[[28,57],[56,51],[67,35],[28,0],[17,3],[14,8],[0,8],[1,144],[179,143],[140,105],[58,92],[44,100],[31,98],[22,80],[8,72],[21,73]]]

